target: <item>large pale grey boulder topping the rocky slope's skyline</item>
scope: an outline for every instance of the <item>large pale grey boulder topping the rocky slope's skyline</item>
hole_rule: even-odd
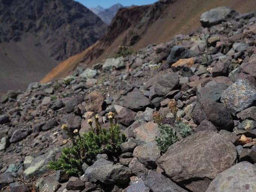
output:
[[[204,12],[200,16],[200,22],[202,27],[212,27],[213,25],[220,24],[230,18],[235,18],[238,13],[231,7],[217,7]]]

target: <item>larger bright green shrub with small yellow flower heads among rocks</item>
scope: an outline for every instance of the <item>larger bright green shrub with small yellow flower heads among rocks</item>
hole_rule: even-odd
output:
[[[54,170],[64,170],[68,175],[78,176],[83,173],[83,162],[91,164],[92,160],[98,154],[117,155],[120,145],[126,140],[124,133],[120,136],[119,124],[113,123],[113,116],[110,112],[109,131],[101,128],[99,117],[94,116],[95,128],[92,126],[92,120],[88,120],[91,130],[87,133],[79,134],[78,130],[71,133],[66,124],[62,125],[62,129],[67,131],[72,142],[71,147],[62,148],[61,155],[57,161],[50,161],[48,168]],[[64,143],[68,140],[64,141]]]

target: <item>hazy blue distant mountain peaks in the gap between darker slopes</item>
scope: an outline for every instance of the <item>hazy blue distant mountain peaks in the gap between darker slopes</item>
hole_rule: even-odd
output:
[[[110,25],[112,19],[114,18],[115,14],[120,8],[123,8],[124,6],[120,3],[114,4],[111,7],[104,9],[101,6],[97,6],[95,8],[90,8],[90,10],[95,13],[96,15],[101,18],[101,20],[107,24]]]

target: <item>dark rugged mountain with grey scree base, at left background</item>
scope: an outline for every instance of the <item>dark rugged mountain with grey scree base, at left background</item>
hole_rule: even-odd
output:
[[[0,92],[39,81],[106,29],[98,16],[73,0],[1,0]]]

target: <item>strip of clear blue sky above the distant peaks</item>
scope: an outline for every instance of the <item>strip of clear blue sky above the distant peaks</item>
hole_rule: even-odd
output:
[[[104,8],[111,7],[113,4],[121,3],[123,6],[143,5],[155,3],[157,0],[75,0],[83,4],[87,8],[102,6]]]

